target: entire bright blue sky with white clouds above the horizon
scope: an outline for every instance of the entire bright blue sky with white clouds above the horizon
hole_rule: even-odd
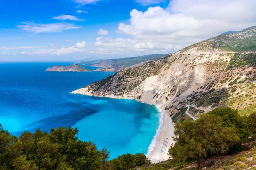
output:
[[[0,61],[79,61],[174,53],[256,25],[255,0],[0,2]]]

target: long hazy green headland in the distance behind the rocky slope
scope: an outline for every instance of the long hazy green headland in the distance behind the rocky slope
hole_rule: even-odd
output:
[[[96,71],[118,71],[127,67],[140,66],[146,64],[149,61],[160,59],[168,54],[150,54],[142,55],[138,57],[126,57],[126,58],[116,58],[116,59],[107,59],[107,60],[94,60],[94,61],[85,61],[79,62],[82,65],[101,67]]]

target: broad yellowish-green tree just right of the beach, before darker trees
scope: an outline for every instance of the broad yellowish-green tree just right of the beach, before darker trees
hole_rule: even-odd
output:
[[[229,134],[227,134],[229,133]],[[239,134],[232,127],[223,127],[219,116],[205,114],[192,121],[187,118],[177,123],[174,131],[174,145],[169,148],[173,160],[184,161],[192,158],[198,161],[198,166],[206,166],[202,160],[207,160],[213,151],[221,153],[221,147],[229,142],[239,141]]]

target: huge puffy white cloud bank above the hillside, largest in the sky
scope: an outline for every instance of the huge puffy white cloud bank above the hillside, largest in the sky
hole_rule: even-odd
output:
[[[96,40],[95,47],[132,53],[175,52],[223,32],[256,25],[255,6],[254,0],[172,0],[167,9],[133,9],[130,23],[119,23],[117,28],[118,33],[130,38],[101,38]]]

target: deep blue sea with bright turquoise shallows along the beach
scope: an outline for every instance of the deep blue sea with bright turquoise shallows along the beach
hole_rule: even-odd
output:
[[[0,124],[11,134],[78,127],[78,139],[106,147],[110,159],[147,153],[159,126],[156,106],[69,92],[114,72],[46,72],[73,63],[0,63]],[[94,67],[86,67],[95,70]]]

